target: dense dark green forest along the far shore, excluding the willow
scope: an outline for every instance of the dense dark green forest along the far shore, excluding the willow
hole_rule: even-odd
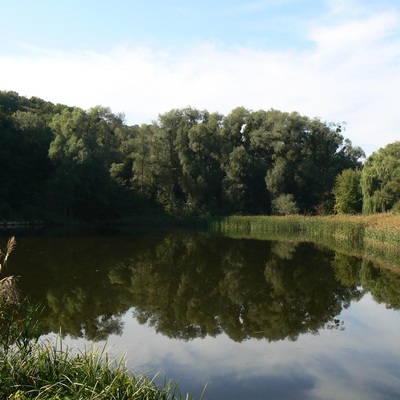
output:
[[[364,156],[341,126],[277,110],[174,109],[149,125],[0,92],[0,219],[330,213]]]

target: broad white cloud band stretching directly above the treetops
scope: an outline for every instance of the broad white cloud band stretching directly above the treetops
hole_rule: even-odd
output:
[[[299,111],[346,121],[345,133],[367,154],[400,130],[400,24],[395,13],[311,26],[312,47],[261,51],[197,45],[179,52],[116,47],[98,52],[31,50],[0,55],[2,90],[89,108],[97,104],[143,123],[191,105]],[[395,32],[396,33],[396,32]]]

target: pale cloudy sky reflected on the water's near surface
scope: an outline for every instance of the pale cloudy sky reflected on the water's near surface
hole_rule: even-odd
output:
[[[107,343],[126,354],[135,371],[180,379],[183,392],[204,399],[398,399],[400,314],[369,294],[340,315],[344,330],[323,329],[296,341],[250,339],[225,334],[188,342],[139,325],[132,310],[121,336]],[[66,340],[83,346],[83,340]]]

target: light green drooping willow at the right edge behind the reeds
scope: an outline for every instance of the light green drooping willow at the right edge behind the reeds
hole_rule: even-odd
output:
[[[400,201],[400,141],[373,153],[361,175],[363,213],[389,211]]]

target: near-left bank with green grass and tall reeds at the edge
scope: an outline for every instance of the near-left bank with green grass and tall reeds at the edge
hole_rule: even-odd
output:
[[[1,399],[192,399],[173,381],[133,374],[123,357],[111,358],[105,347],[78,350],[61,339],[41,340],[39,321],[38,307],[26,300],[0,299]]]

